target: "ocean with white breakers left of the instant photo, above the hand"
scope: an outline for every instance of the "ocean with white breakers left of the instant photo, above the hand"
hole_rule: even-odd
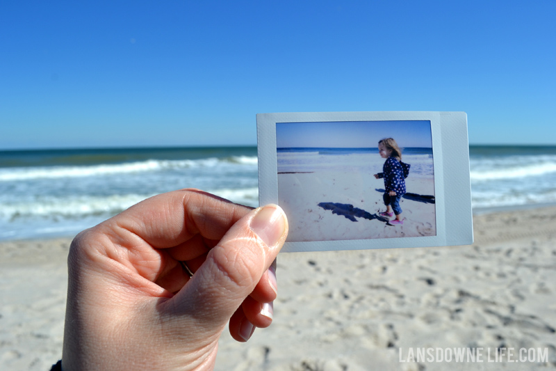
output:
[[[258,205],[256,147],[0,152],[0,240],[75,235],[181,188]]]

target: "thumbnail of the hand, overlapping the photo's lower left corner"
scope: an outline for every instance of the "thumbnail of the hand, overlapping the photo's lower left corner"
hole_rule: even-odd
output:
[[[251,219],[250,228],[267,246],[274,246],[286,232],[286,215],[278,205],[266,205]]]

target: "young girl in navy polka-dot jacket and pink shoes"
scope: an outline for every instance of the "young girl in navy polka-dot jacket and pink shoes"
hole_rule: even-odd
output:
[[[390,224],[403,224],[401,219],[402,209],[400,207],[400,198],[405,193],[404,171],[400,161],[402,161],[402,150],[398,147],[398,143],[392,138],[382,139],[378,142],[378,151],[380,157],[386,159],[382,166],[382,173],[375,174],[375,178],[384,177],[384,188],[386,191],[382,198],[386,205],[386,212],[379,215],[391,218],[392,211],[395,219]]]

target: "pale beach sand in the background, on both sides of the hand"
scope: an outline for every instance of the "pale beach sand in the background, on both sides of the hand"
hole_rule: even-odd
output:
[[[474,230],[469,246],[279,255],[272,326],[246,344],[224,331],[216,370],[555,368],[556,207],[476,216]],[[69,244],[0,244],[1,370],[60,358]],[[546,348],[548,362],[400,362],[400,347],[404,360],[410,347]]]

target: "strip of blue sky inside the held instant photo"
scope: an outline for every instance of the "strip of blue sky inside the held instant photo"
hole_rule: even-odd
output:
[[[401,148],[432,148],[430,121],[277,123],[277,148],[369,148],[393,138]]]

